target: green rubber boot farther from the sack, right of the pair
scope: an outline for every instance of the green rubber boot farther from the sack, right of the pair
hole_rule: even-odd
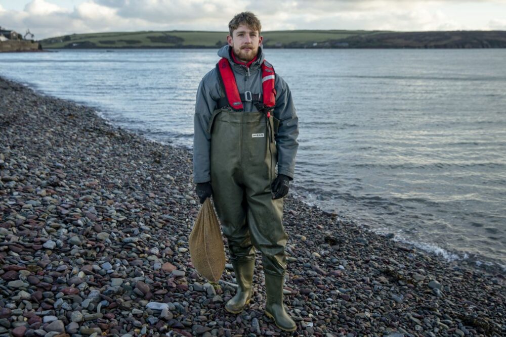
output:
[[[264,273],[267,303],[265,314],[272,318],[278,328],[284,331],[295,331],[297,325],[283,307],[283,283],[282,276],[274,276]]]

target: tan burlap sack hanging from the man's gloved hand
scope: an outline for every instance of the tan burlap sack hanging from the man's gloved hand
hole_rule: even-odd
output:
[[[225,269],[225,247],[220,224],[209,198],[198,212],[188,244],[195,269],[208,280],[218,281]]]

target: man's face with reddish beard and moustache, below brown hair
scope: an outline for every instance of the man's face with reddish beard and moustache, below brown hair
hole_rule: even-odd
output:
[[[242,62],[249,62],[257,56],[258,47],[262,44],[263,36],[257,30],[240,25],[227,36],[228,44],[232,47],[235,57]]]

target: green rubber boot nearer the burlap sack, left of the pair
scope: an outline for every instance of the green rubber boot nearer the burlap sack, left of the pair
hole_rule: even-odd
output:
[[[244,310],[244,306],[251,300],[253,295],[253,268],[255,267],[255,260],[244,261],[239,263],[232,263],[237,279],[237,292],[227,304],[225,309],[232,313],[238,314]]]

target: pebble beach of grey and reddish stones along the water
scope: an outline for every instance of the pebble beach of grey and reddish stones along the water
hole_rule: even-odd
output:
[[[1,77],[0,93],[0,319],[9,321],[0,335],[62,326],[83,335],[285,335],[263,315],[262,272],[252,305],[236,316],[224,309],[233,286],[205,284],[194,271],[186,248],[199,206],[188,150]],[[284,214],[294,335],[506,333],[503,275],[290,197]],[[232,278],[227,268],[222,280]]]

